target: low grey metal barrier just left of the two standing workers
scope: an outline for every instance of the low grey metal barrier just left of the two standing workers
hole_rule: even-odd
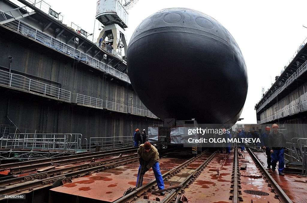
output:
[[[118,136],[118,137],[90,137],[89,151],[92,146],[99,146],[102,150],[116,149],[126,146],[134,146],[133,136]],[[94,147],[95,149],[95,147]]]

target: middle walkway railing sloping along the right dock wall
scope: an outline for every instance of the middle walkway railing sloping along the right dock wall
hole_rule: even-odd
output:
[[[307,62],[307,61],[306,61]],[[307,64],[303,63],[295,73],[293,73],[285,82],[285,84],[278,88],[272,96],[270,96],[258,109],[257,113],[265,107],[268,103],[270,103],[280,92],[282,92],[286,87],[288,87],[295,79],[297,79],[302,73],[304,73],[307,70]]]

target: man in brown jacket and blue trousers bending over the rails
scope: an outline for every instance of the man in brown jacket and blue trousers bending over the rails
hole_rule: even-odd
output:
[[[159,166],[159,152],[158,150],[146,141],[144,144],[140,145],[138,148],[138,160],[140,161],[140,167],[138,167],[138,177],[140,173],[145,174],[150,168],[153,169],[153,174],[156,178],[157,185],[159,190],[164,189],[164,182],[160,171]],[[141,170],[142,165],[144,164],[143,170]],[[137,179],[138,183],[138,179]],[[141,183],[142,186],[142,183]],[[160,195],[165,195],[165,192],[161,192]]]

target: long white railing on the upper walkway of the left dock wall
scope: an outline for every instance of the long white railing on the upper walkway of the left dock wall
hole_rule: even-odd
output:
[[[69,55],[73,58],[76,58],[79,61],[85,62],[88,65],[98,69],[98,70],[102,70],[106,73],[109,73],[110,75],[113,75],[115,77],[117,77],[118,79],[125,81],[127,83],[130,84],[130,79],[128,77],[127,74],[120,72],[119,70],[116,70],[115,68],[112,68],[111,66],[108,66],[107,64],[100,62],[99,60],[88,56],[86,54],[84,54],[81,51],[78,51],[77,49],[69,46],[68,44],[65,44],[63,42],[61,42],[60,40],[55,39],[54,37],[51,37],[49,35],[47,35],[44,32],[41,32],[35,28],[33,28],[32,26],[19,21],[19,20],[15,20],[15,21],[11,21],[9,23],[4,24],[7,27],[20,32],[23,35],[29,36],[45,45],[47,45],[48,47],[51,47],[53,49],[56,49],[57,51],[60,51],[66,55]]]

